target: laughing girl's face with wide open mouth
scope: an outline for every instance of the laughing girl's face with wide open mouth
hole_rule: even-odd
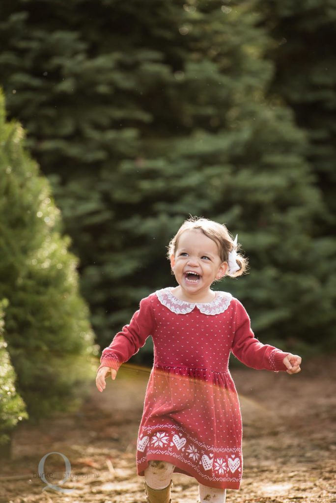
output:
[[[208,302],[204,299],[209,297],[211,284],[222,278],[228,268],[219,257],[217,243],[200,229],[181,234],[171,266],[184,297],[199,302]]]

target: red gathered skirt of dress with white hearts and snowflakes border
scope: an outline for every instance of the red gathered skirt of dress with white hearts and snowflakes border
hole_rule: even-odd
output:
[[[230,372],[154,364],[137,442],[137,473],[149,460],[209,487],[239,489],[242,423]]]

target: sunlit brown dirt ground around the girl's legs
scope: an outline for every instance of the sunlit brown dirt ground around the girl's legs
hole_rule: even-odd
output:
[[[21,424],[0,473],[1,503],[145,503],[136,438],[150,369],[124,364],[79,411]],[[232,369],[243,416],[243,476],[227,503],[336,503],[336,356],[299,374]],[[38,465],[48,453],[43,471]],[[66,475],[64,472],[68,471]],[[62,483],[62,480],[64,483]],[[196,503],[197,482],[173,475],[172,503]]]

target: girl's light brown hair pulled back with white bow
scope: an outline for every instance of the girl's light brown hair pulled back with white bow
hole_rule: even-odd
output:
[[[173,239],[171,239],[168,248],[167,257],[170,260],[172,255],[175,255],[176,248],[179,244],[179,239],[181,234],[186,230],[199,229],[207,237],[215,241],[218,246],[219,257],[222,262],[227,262],[229,258],[229,252],[233,249],[233,238],[224,224],[214,222],[204,217],[190,217],[184,221],[181,225]],[[236,250],[240,248],[240,244],[237,243]],[[237,254],[236,262],[240,269],[232,274],[225,274],[225,276],[230,276],[231,278],[236,278],[246,273],[248,269],[248,259],[240,254]]]

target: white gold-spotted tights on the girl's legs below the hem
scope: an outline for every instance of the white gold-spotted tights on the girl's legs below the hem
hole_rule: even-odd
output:
[[[145,481],[152,489],[163,489],[170,484],[175,466],[167,461],[149,461]],[[198,484],[200,503],[225,503],[226,489]]]

